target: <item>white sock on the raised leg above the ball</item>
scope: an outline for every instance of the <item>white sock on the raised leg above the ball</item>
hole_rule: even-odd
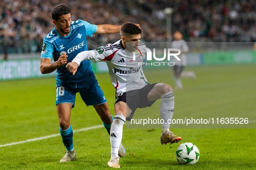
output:
[[[160,107],[160,116],[164,120],[162,124],[162,133],[169,131],[170,124],[168,120],[172,120],[172,115],[174,111],[174,94],[173,91],[169,91],[161,96],[161,107]]]

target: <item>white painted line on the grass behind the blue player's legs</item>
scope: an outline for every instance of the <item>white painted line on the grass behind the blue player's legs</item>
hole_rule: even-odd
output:
[[[83,128],[83,129],[73,130],[73,133],[87,131],[87,130],[91,130],[91,129],[97,129],[97,128],[101,128],[101,127],[104,127],[104,125],[91,126],[91,127],[87,127],[87,128]],[[61,135],[60,133],[57,133],[57,134],[43,136],[43,137],[34,138],[34,139],[27,139],[26,141],[8,143],[8,144],[5,144],[5,145],[0,145],[0,148],[5,147],[5,146],[18,145],[18,144],[26,143],[26,142],[39,141],[39,140],[47,139],[47,138],[53,138],[53,137],[60,136],[60,135]]]

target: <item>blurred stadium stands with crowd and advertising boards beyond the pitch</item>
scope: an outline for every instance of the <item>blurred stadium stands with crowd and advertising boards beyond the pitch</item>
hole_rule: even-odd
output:
[[[51,10],[60,3],[70,6],[72,20],[82,19],[96,25],[139,23],[144,30],[144,42],[171,41],[172,33],[181,31],[185,41],[197,42],[190,46],[188,65],[205,64],[205,60],[208,64],[255,63],[254,0],[1,0],[0,80],[55,75],[42,75],[39,62],[42,39],[55,26]],[[94,35],[87,38],[87,46],[95,49],[119,39],[119,34]],[[248,43],[229,43],[241,41]],[[249,58],[234,59],[232,55],[236,52],[232,50],[239,49],[250,50]],[[204,55],[209,51],[222,51],[223,55],[211,55],[211,63],[211,57]],[[104,63],[93,66],[95,72],[107,72]]]

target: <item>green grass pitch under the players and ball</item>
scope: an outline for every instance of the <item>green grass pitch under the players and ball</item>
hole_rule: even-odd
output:
[[[193,66],[198,79],[182,79],[185,87],[175,91],[177,115],[218,115],[239,112],[255,116],[256,65]],[[161,72],[167,72],[160,77]],[[144,70],[149,82],[172,85],[172,70]],[[96,74],[114,115],[114,88],[109,75]],[[55,78],[0,82],[0,145],[57,134]],[[156,102],[159,109],[160,102]],[[159,105],[159,106],[157,106]],[[143,114],[138,110],[135,114]],[[255,119],[256,120],[256,119]],[[77,95],[71,111],[73,130],[101,125],[93,107],[86,107]],[[256,126],[256,123],[252,124]],[[200,158],[194,165],[180,165],[175,157],[179,144],[160,144],[161,129],[123,128],[122,143],[126,157],[120,158],[122,169],[131,170],[255,170],[256,129],[172,129],[182,137],[181,143],[192,142]],[[74,133],[77,159],[67,164],[58,161],[65,147],[60,136],[0,148],[0,169],[15,170],[103,170],[109,169],[110,142],[104,128]]]

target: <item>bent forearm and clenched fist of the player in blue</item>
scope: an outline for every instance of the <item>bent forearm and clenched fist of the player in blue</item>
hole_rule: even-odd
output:
[[[58,61],[51,63],[51,59],[49,58],[41,58],[40,70],[42,74],[48,74],[54,72],[58,67],[64,66],[67,63],[67,55],[62,54],[61,57],[58,58]]]

